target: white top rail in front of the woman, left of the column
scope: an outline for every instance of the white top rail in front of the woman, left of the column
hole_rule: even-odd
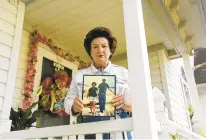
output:
[[[47,128],[38,128],[38,129],[29,129],[22,131],[13,131],[2,134],[3,139],[28,139],[28,138],[54,138],[54,137],[64,137],[84,134],[101,134],[104,132],[122,132],[122,131],[131,131],[132,130],[132,119],[119,119],[111,121],[102,121],[102,122],[92,122],[92,123],[83,123],[83,124],[72,124],[72,125],[63,125]]]

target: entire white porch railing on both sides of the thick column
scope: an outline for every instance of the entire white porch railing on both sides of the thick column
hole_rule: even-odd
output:
[[[155,114],[156,114],[156,130],[159,134],[159,139],[169,139],[169,134],[180,134],[187,139],[205,139],[204,137],[186,129],[177,123],[168,119],[168,111],[164,107],[164,95],[157,88],[153,89]],[[141,111],[140,111],[141,112]],[[134,119],[134,118],[133,118]],[[47,128],[28,129],[22,131],[5,132],[1,134],[2,139],[31,139],[31,138],[48,138],[55,137],[67,139],[84,139],[85,134],[96,134],[96,139],[102,139],[102,133],[112,133],[111,139],[122,139],[123,131],[133,130],[133,119],[118,119],[102,122],[92,122],[83,124],[63,125]]]

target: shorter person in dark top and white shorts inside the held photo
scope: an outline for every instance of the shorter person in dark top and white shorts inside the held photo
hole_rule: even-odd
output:
[[[90,111],[92,115],[96,114],[96,101],[97,101],[97,91],[98,91],[96,85],[97,85],[96,82],[92,82],[92,87],[89,88],[87,94],[87,97],[89,98],[89,102],[90,102]]]

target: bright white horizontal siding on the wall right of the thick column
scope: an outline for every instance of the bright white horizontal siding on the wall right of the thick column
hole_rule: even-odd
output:
[[[187,114],[187,107],[185,104],[185,95],[182,91],[180,82],[180,71],[177,71],[174,64],[163,53],[165,76],[167,80],[167,90],[169,94],[169,102],[171,106],[171,115],[173,121],[182,125],[185,128],[189,128],[189,120]]]

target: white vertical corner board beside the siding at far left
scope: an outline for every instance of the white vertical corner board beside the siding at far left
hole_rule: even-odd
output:
[[[18,69],[18,58],[20,53],[20,45],[22,39],[22,29],[23,29],[23,21],[24,21],[24,12],[25,12],[25,4],[21,1],[18,3],[18,12],[17,12],[17,22],[15,26],[15,34],[13,40],[13,47],[10,59],[10,67],[8,72],[8,81],[6,85],[6,91],[4,96],[4,104],[1,117],[3,119],[9,119],[10,109],[12,105],[14,86],[16,73]]]

